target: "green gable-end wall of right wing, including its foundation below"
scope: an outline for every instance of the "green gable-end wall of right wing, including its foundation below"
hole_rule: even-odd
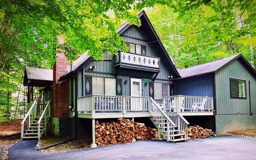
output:
[[[230,98],[230,78],[246,81],[246,99]],[[251,81],[251,108],[249,107]],[[237,59],[216,71],[216,132],[256,128],[256,79],[241,60]]]

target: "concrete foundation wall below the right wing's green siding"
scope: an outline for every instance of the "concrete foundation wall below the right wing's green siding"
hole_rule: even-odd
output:
[[[225,134],[227,131],[256,129],[256,114],[222,114],[216,115],[216,134]]]

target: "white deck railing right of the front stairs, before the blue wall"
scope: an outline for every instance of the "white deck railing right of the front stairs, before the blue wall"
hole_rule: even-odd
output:
[[[166,112],[213,112],[213,97],[163,97],[163,107]]]

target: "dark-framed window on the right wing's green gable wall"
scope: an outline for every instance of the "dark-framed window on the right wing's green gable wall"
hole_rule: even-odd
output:
[[[230,79],[230,98],[246,98],[246,81]]]

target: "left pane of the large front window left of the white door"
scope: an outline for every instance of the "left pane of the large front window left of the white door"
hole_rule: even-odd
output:
[[[104,78],[92,77],[92,94],[104,95]]]

